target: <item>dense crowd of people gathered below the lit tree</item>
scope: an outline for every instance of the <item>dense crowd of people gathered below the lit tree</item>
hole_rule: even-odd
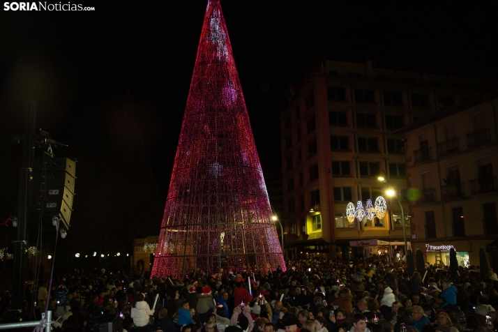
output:
[[[146,273],[67,274],[28,285],[23,320],[41,319],[48,302],[61,331],[127,332],[490,332],[497,330],[498,278],[489,269],[402,262],[289,260],[287,271],[230,271],[183,280]],[[483,278],[484,276],[484,278]],[[0,301],[6,321],[11,296]]]

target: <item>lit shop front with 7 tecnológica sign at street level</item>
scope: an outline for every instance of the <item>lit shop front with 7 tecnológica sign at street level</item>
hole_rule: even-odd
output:
[[[414,248],[420,249],[424,252],[424,257],[426,262],[429,264],[435,264],[436,259],[439,260],[439,253],[441,255],[441,262],[445,266],[450,264],[450,250],[455,248],[457,254],[458,265],[463,267],[469,267],[470,265],[470,255],[471,255],[471,243],[470,241],[451,241],[448,243],[444,242],[433,242],[433,243],[414,243]]]

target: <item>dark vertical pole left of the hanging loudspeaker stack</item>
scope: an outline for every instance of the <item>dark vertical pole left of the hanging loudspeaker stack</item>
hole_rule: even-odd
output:
[[[35,133],[36,102],[26,103],[24,111],[24,137],[22,144],[22,165],[19,172],[19,205],[17,206],[18,226],[17,240],[14,241],[14,280],[12,310],[22,310],[24,300],[24,270],[26,269],[27,221],[29,180],[31,177],[31,162],[33,159],[33,135]]]

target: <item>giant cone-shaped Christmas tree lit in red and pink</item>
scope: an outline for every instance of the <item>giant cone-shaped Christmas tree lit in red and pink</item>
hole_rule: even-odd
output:
[[[281,266],[254,137],[219,0],[209,0],[152,275]]]

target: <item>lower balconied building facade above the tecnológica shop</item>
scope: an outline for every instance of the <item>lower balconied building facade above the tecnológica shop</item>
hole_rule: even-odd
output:
[[[405,137],[412,246],[430,264],[479,265],[498,238],[498,92],[451,107],[396,133]],[[491,262],[488,259],[488,262]]]

